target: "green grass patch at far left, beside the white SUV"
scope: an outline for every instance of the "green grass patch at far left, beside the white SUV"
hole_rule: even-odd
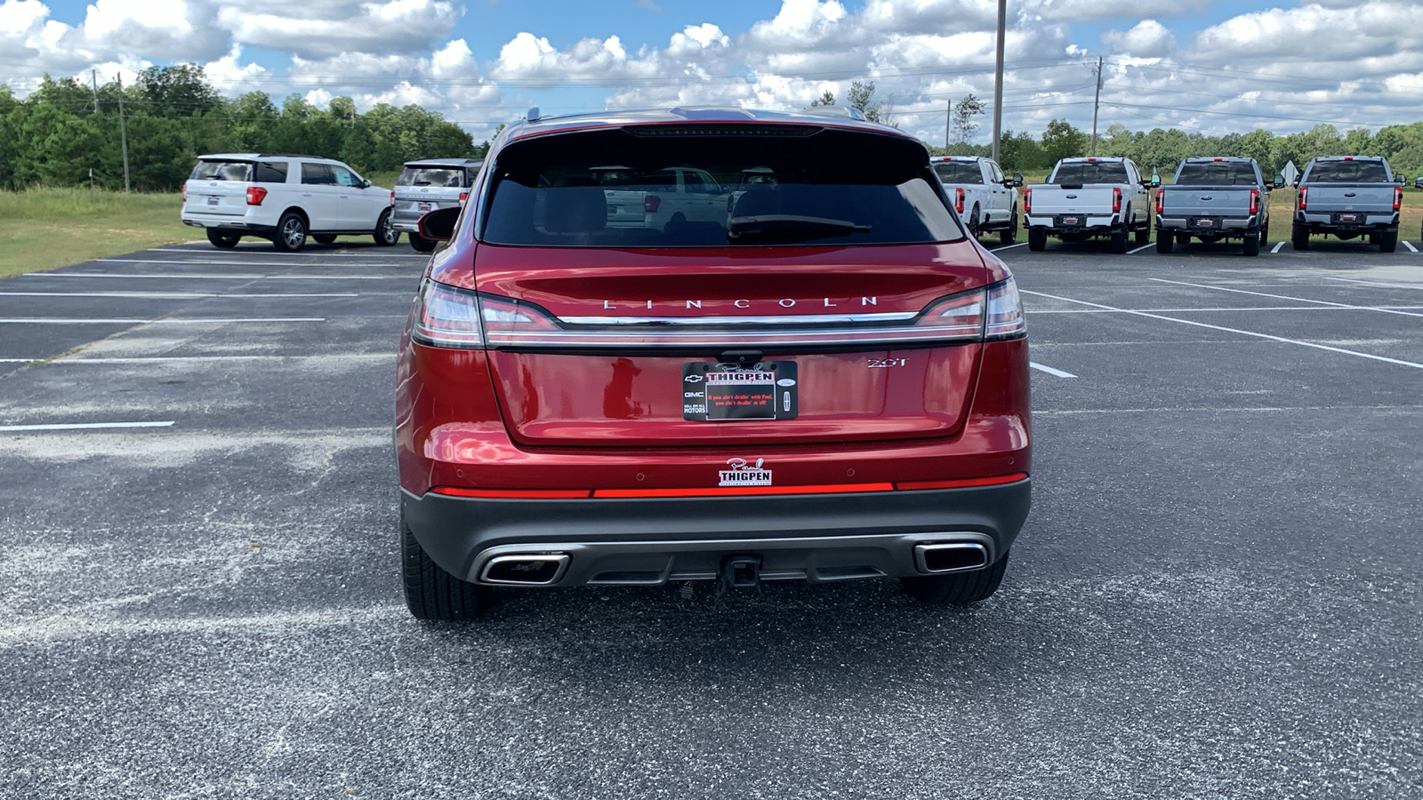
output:
[[[0,191],[0,278],[202,239],[178,221],[178,194]]]

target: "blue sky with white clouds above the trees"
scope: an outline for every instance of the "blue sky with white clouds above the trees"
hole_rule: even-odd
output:
[[[0,0],[0,83],[125,83],[196,63],[225,94],[361,110],[418,102],[488,138],[603,108],[805,107],[874,81],[896,125],[943,144],[945,104],[989,104],[996,0]],[[1423,0],[1009,0],[1003,127],[1276,134],[1423,120]]]

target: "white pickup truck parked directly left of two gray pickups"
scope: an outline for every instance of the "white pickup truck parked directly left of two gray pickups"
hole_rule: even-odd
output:
[[[1127,236],[1137,245],[1151,241],[1151,194],[1155,175],[1143,178],[1130,158],[1064,158],[1046,184],[1023,192],[1027,249],[1042,251],[1047,236],[1086,242],[1107,236],[1111,252],[1127,252]]]

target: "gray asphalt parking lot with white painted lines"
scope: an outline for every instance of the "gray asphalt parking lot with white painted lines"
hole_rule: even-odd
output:
[[[462,626],[400,596],[404,242],[0,280],[0,796],[1423,796],[1423,255],[1275,249],[998,251],[1035,507],[979,606]]]

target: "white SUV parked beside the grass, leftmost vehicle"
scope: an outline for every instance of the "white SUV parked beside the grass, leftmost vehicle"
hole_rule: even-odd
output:
[[[307,236],[323,245],[349,235],[386,246],[400,241],[390,226],[390,189],[330,158],[203,155],[182,188],[184,225],[206,228],[218,248],[233,248],[242,236],[272,239],[282,252],[302,249]]]

